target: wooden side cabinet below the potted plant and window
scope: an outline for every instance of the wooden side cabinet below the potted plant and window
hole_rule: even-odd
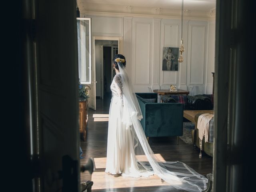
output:
[[[88,100],[79,101],[79,132],[82,134],[82,138],[85,141],[86,127],[88,122]]]

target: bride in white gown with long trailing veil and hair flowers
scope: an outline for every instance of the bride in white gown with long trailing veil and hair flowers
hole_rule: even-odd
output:
[[[182,162],[161,162],[151,150],[140,124],[142,113],[125,66],[125,57],[116,54],[113,58],[116,75],[110,86],[112,99],[105,172],[124,177],[156,174],[177,189],[189,192],[205,190],[207,178]]]

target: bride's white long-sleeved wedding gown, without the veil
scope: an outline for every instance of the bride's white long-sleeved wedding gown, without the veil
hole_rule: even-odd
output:
[[[122,176],[140,177],[153,175],[136,160],[134,151],[134,132],[122,123],[123,88],[120,74],[116,74],[110,86],[112,99],[108,120],[108,148],[106,172]]]

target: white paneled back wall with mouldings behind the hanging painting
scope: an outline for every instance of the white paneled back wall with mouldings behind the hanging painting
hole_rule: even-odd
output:
[[[109,15],[109,14],[108,14]],[[186,19],[183,23],[184,61],[178,71],[162,71],[163,47],[180,46],[180,19],[138,16],[92,17],[92,35],[124,39],[127,72],[135,92],[195,87],[194,94],[212,92],[215,22]]]

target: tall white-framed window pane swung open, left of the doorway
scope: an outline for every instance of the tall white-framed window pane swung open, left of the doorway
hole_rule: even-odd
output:
[[[81,84],[92,82],[91,18],[76,18],[78,40],[78,72]]]

